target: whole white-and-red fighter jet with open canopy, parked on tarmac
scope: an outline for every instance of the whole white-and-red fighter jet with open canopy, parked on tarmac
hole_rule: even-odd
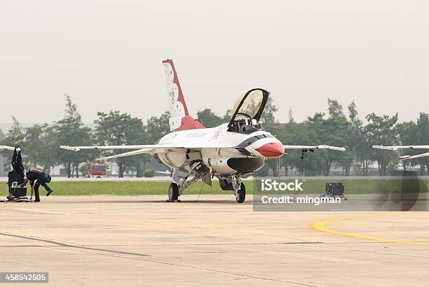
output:
[[[173,169],[168,199],[178,200],[184,190],[201,179],[212,186],[214,176],[222,190],[231,190],[237,202],[245,201],[242,179],[264,166],[267,158],[280,158],[285,149],[330,149],[336,146],[285,146],[259,123],[269,92],[261,88],[249,90],[238,97],[229,123],[206,128],[189,116],[182,88],[172,59],[163,61],[170,103],[170,133],[158,144],[137,146],[60,146],[69,151],[88,149],[135,150],[98,160],[110,160],[147,153]]]

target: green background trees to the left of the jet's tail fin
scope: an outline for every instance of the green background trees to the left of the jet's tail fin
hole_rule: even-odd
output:
[[[37,124],[22,128],[18,120],[13,118],[13,125],[1,144],[21,146],[22,160],[27,167],[49,170],[51,167],[62,165],[68,177],[79,177],[79,174],[86,174],[87,165],[93,162],[95,158],[123,153],[123,151],[79,151],[79,153],[74,153],[60,149],[60,145],[154,144],[170,131],[168,113],[163,113],[160,117],[151,117],[147,123],[143,123],[141,119],[119,111],[97,113],[94,127],[91,128],[83,124],[77,106],[71,102],[69,96],[67,96],[66,101],[64,118],[51,125]],[[6,151],[3,153],[4,155],[10,154]],[[123,177],[125,172],[132,171],[137,172],[137,176],[142,176],[145,165],[151,159],[149,155],[135,155],[116,159],[118,176]]]

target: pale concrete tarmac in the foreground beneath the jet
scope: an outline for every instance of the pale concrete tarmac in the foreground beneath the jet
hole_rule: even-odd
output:
[[[1,203],[0,272],[49,272],[40,286],[429,284],[428,212],[257,212],[251,196],[181,198]]]

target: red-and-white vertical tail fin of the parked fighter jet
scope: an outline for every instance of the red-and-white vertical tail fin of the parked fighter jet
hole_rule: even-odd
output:
[[[167,81],[168,103],[170,104],[170,131],[203,129],[203,124],[189,116],[172,59],[163,60],[163,65]]]

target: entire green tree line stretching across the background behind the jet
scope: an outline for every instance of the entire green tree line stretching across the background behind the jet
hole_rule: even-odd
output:
[[[370,113],[365,116],[366,123],[360,120],[357,107],[352,102],[346,113],[343,106],[334,99],[328,99],[327,113],[315,113],[302,123],[297,123],[289,111],[287,123],[278,123],[275,112],[278,108],[272,99],[268,100],[261,117],[264,128],[278,137],[283,144],[315,145],[327,144],[344,146],[346,151],[286,151],[288,154],[280,159],[280,166],[285,175],[290,171],[307,176],[329,176],[332,169],[341,170],[341,175],[367,176],[369,166],[376,164],[381,176],[390,174],[397,169],[397,153],[371,148],[372,145],[392,146],[398,144],[421,145],[429,144],[429,114],[420,113],[415,121],[398,123],[397,113],[393,116]],[[74,153],[64,151],[58,146],[92,146],[92,145],[133,145],[155,144],[163,135],[170,132],[168,125],[169,113],[152,116],[146,123],[139,118],[120,111],[97,113],[93,127],[83,124],[77,106],[69,96],[66,98],[64,118],[53,124],[36,124],[23,128],[16,118],[0,144],[7,146],[19,145],[23,148],[23,161],[27,167],[40,167],[48,170],[62,165],[67,176],[85,174],[86,165],[100,156],[114,155],[123,151],[80,151]],[[226,123],[231,118],[231,111],[224,116],[217,116],[210,109],[197,113],[197,118],[206,127],[215,127]],[[5,155],[8,154],[5,151]],[[418,151],[405,151],[416,154]],[[304,155],[304,158],[302,157]],[[115,159],[118,174],[123,177],[125,172],[142,173],[148,162],[154,160],[150,155],[135,155]],[[420,158],[402,162],[402,168],[415,167],[422,175],[429,174],[429,158]],[[262,174],[276,173],[277,162],[268,161]]]

